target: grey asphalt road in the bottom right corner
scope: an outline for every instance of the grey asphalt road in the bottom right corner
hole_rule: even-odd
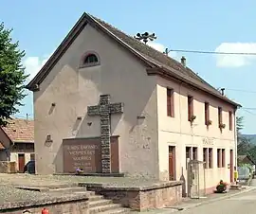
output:
[[[256,179],[251,186],[256,187]],[[217,201],[208,205],[174,212],[174,214],[255,214],[256,213],[256,189],[242,193],[229,199]]]

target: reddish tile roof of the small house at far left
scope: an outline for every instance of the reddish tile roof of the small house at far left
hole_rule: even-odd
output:
[[[7,127],[3,127],[12,142],[34,142],[34,120],[13,118]]]

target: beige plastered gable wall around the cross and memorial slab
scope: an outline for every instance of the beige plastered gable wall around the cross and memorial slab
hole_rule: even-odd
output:
[[[101,65],[80,69],[82,55],[90,50],[100,55]],[[130,53],[87,25],[41,83],[40,91],[34,92],[37,172],[63,172],[64,138],[100,136],[100,116],[87,116],[86,109],[98,104],[100,95],[110,94],[111,102],[124,102],[124,114],[111,116],[112,134],[120,136],[120,171],[157,177],[155,85],[156,78],[147,76]],[[52,143],[46,143],[48,134]]]

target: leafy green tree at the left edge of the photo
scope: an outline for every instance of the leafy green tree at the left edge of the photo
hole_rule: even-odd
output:
[[[10,116],[19,112],[21,99],[26,97],[25,51],[19,50],[18,42],[12,42],[11,31],[0,23],[0,126],[6,126]]]

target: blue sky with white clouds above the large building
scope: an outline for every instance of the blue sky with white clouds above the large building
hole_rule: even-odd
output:
[[[256,52],[255,8],[253,0],[245,3],[238,0],[5,1],[1,4],[0,21],[13,28],[13,39],[27,53],[24,59],[27,73],[34,76],[83,11],[131,35],[155,32],[154,45],[160,49]],[[245,107],[239,110],[239,115],[245,116],[244,133],[256,134],[253,125],[256,110],[246,109],[256,108],[256,57],[171,55],[175,59],[185,55],[188,66],[202,78],[215,87],[226,87],[229,98]],[[31,117],[31,93],[23,102],[25,106],[17,116]]]

